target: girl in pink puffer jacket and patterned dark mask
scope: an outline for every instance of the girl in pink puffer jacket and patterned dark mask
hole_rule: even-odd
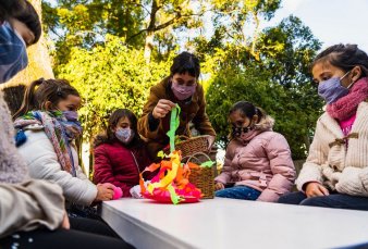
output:
[[[247,101],[229,113],[231,141],[221,174],[214,178],[216,196],[275,202],[294,184],[295,169],[284,136],[272,132],[273,119]],[[225,188],[225,186],[233,187]]]

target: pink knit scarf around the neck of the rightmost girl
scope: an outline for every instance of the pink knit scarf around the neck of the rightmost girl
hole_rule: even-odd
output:
[[[327,105],[327,113],[335,120],[344,121],[356,113],[359,103],[368,98],[368,77],[357,80],[348,95]]]

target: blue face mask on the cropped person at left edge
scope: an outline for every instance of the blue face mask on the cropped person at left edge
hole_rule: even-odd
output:
[[[23,38],[4,22],[0,24],[0,84],[11,79],[28,64]]]

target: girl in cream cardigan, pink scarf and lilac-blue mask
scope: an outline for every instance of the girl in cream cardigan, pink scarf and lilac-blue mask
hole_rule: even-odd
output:
[[[368,55],[356,45],[335,45],[312,63],[327,111],[317,121],[298,192],[280,203],[368,210]]]

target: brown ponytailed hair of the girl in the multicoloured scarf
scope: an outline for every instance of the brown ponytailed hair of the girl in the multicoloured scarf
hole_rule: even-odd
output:
[[[29,111],[46,110],[45,103],[47,101],[56,107],[70,95],[79,97],[79,92],[66,79],[37,79],[26,88],[22,107],[13,115],[13,119],[15,120]]]

